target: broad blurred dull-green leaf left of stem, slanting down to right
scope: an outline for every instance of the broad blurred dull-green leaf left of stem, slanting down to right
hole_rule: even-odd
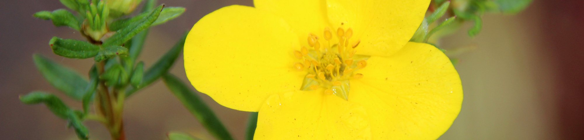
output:
[[[82,99],[88,82],[81,75],[39,54],[33,55],[33,60],[34,65],[51,85],[73,99]]]

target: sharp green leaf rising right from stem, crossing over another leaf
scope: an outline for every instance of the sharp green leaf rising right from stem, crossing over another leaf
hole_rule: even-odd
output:
[[[103,46],[114,45],[121,46],[121,44],[125,43],[126,41],[130,40],[130,38],[140,33],[140,31],[150,27],[150,24],[152,24],[156,19],[158,19],[158,16],[160,15],[162,8],[164,8],[164,4],[158,6],[155,10],[148,14],[148,16],[145,16],[142,19],[138,20],[137,22],[133,22],[128,26],[124,27],[123,29],[116,31],[116,33],[112,37],[107,38],[105,41],[103,41]]]

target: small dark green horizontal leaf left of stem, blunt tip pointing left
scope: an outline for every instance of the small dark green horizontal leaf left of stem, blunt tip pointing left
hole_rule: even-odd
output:
[[[48,44],[53,53],[67,58],[85,59],[95,57],[99,53],[99,46],[86,41],[53,37]]]

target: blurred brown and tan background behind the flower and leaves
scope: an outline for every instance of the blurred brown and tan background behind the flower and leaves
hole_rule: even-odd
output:
[[[159,0],[186,7],[178,19],[151,29],[140,59],[147,67],[207,13],[252,0]],[[18,95],[33,90],[58,93],[32,61],[39,53],[85,74],[92,60],[54,55],[53,36],[84,40],[77,31],[35,19],[40,10],[64,8],[57,0],[2,1],[0,8],[0,139],[76,139],[65,121],[43,105],[27,106]],[[454,54],[463,81],[463,108],[440,139],[584,139],[584,1],[534,1],[517,15],[484,16],[482,33],[465,30],[443,39],[444,48],[474,47]],[[187,82],[182,57],[172,73]],[[60,94],[57,94],[64,97]],[[248,113],[220,106],[200,94],[236,139],[243,139]],[[63,98],[77,108],[80,103]],[[127,100],[128,139],[166,139],[169,131],[213,139],[157,82]],[[109,139],[97,122],[87,122],[92,139]]]

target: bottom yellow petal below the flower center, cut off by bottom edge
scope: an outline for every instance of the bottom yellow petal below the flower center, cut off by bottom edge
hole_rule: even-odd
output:
[[[371,139],[363,107],[323,92],[270,96],[259,111],[253,139]]]

